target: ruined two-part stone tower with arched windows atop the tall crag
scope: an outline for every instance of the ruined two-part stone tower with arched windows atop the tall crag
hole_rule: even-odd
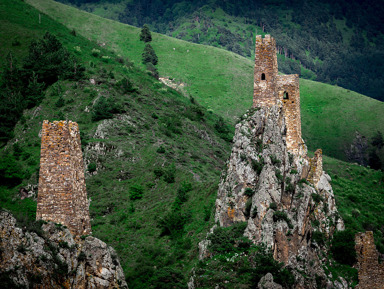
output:
[[[271,107],[283,103],[287,125],[287,148],[302,150],[299,76],[278,75],[276,42],[270,35],[256,36],[253,107]]]

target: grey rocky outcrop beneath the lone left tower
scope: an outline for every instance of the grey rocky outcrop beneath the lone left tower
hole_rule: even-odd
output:
[[[128,288],[113,248],[52,222],[27,231],[1,212],[0,255],[3,288]]]

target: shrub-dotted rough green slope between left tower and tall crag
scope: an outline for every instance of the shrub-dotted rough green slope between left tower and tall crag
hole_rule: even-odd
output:
[[[21,42],[15,54],[27,54],[23,35],[32,40],[50,31],[83,60],[86,76],[58,81],[39,107],[24,111],[15,139],[0,152],[2,161],[14,160],[24,179],[16,187],[0,184],[1,207],[35,218],[36,202],[20,200],[18,192],[37,185],[42,121],[76,121],[92,172],[86,173],[86,185],[93,235],[116,249],[130,288],[162,284],[162,278],[184,288],[197,260],[197,243],[213,225],[217,184],[230,151],[228,137],[215,129],[219,117],[103,48],[92,56],[96,44],[46,15],[40,25],[38,16],[25,2],[2,1],[0,21]],[[1,43],[10,36],[3,31]],[[14,50],[12,45],[2,49]],[[134,90],[121,88],[123,77]],[[113,119],[92,119],[101,97],[116,106]]]

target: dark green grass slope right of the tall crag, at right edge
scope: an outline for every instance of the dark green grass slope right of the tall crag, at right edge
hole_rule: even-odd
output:
[[[345,227],[373,231],[376,246],[384,253],[384,173],[326,156],[323,161]]]

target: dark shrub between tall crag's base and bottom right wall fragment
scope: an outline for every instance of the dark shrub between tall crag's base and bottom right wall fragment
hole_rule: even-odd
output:
[[[331,252],[337,262],[352,266],[356,262],[355,234],[350,230],[335,232]]]

